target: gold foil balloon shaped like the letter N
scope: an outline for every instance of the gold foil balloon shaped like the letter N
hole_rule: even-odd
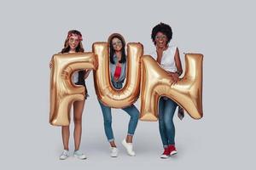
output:
[[[151,57],[141,59],[142,121],[157,121],[160,96],[166,96],[182,106],[189,116],[200,119],[202,112],[202,54],[186,54],[184,77],[172,84],[167,72]]]

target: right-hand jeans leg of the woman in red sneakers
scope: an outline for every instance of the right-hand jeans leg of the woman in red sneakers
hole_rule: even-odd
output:
[[[166,136],[168,139],[168,144],[175,144],[175,127],[172,119],[176,108],[177,104],[174,101],[172,101],[172,99],[166,100],[164,110],[164,123],[166,127]]]

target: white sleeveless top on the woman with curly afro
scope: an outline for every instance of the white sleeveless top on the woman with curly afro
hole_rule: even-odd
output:
[[[160,62],[160,66],[171,72],[176,72],[177,67],[175,65],[174,55],[176,53],[177,46],[169,46],[165,51],[163,51],[163,56]],[[155,60],[157,59],[157,53],[154,51],[150,54]]]

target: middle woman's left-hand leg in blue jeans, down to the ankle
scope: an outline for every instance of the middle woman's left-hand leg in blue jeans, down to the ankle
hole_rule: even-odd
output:
[[[111,147],[116,147],[113,139],[113,129],[112,129],[112,116],[111,116],[111,108],[103,105],[102,102],[99,100],[99,103],[102,108],[102,115],[104,120],[104,130],[107,136],[108,142]]]

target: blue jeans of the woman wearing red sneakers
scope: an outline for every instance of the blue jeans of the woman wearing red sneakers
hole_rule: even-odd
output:
[[[177,104],[166,97],[161,97],[159,101],[159,129],[164,148],[169,144],[175,144],[175,127],[173,124],[173,115]]]

